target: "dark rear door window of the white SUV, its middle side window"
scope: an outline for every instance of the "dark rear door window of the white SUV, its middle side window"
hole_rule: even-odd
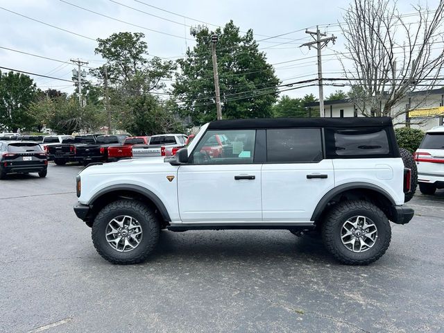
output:
[[[266,131],[268,162],[319,162],[323,159],[319,128],[289,128]]]

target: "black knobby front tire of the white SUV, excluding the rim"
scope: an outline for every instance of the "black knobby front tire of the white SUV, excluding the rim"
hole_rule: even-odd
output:
[[[117,216],[133,216],[142,227],[140,244],[129,252],[118,252],[108,244],[105,230],[108,223]],[[137,200],[117,200],[97,214],[92,224],[92,242],[99,255],[112,264],[139,264],[144,262],[159,240],[160,223],[153,210]]]

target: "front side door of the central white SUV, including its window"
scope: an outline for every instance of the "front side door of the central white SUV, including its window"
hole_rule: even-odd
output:
[[[183,223],[261,221],[261,163],[255,130],[208,130],[178,170]]]

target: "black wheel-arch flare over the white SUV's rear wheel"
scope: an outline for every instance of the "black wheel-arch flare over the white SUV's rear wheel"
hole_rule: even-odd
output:
[[[339,185],[328,191],[319,200],[318,205],[311,215],[311,221],[318,223],[334,203],[343,200],[364,199],[375,203],[388,217],[393,221],[393,207],[396,205],[395,200],[382,187],[368,182],[350,182],[348,184]]]

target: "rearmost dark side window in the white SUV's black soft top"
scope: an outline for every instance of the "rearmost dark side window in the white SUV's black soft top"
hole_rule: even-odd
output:
[[[390,153],[385,130],[337,130],[334,133],[338,156],[387,155]]]

